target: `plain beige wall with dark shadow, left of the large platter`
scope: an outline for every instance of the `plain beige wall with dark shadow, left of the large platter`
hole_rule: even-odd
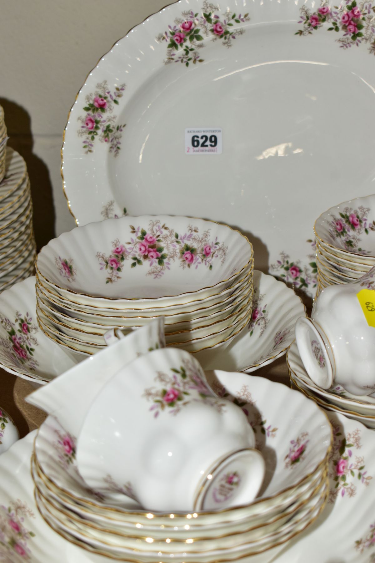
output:
[[[8,143],[25,158],[40,248],[74,227],[61,187],[67,114],[112,44],[168,0],[3,0],[0,104]]]

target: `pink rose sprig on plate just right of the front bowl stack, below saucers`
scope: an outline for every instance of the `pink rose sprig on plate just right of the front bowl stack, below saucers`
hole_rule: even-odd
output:
[[[334,503],[338,494],[353,497],[356,485],[369,485],[372,477],[365,469],[362,455],[354,455],[354,450],[361,448],[360,430],[342,435],[341,427],[333,425],[333,448],[329,464],[329,477],[335,486],[329,490],[329,502]]]

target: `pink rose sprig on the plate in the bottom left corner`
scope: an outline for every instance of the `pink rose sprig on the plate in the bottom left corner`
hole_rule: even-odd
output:
[[[17,499],[9,506],[0,507],[0,559],[6,563],[31,561],[30,540],[34,532],[26,526],[28,519],[35,518],[27,504]]]

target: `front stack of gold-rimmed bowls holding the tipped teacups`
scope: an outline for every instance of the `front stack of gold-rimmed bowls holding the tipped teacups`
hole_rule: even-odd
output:
[[[74,438],[48,417],[35,439],[32,476],[38,510],[51,528],[115,560],[266,563],[317,519],[329,490],[326,414],[302,394],[261,377],[251,378],[251,394],[245,374],[208,377],[218,395],[243,405],[256,432],[266,477],[255,502],[211,512],[157,513],[144,510],[126,485],[113,482],[118,502],[109,503],[85,486]]]

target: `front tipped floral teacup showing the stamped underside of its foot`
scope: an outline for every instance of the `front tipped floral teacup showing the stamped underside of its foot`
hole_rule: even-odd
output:
[[[196,511],[251,502],[263,457],[237,405],[207,385],[193,356],[164,348],[111,379],[87,413],[76,459],[108,498],[125,491],[148,510]]]

